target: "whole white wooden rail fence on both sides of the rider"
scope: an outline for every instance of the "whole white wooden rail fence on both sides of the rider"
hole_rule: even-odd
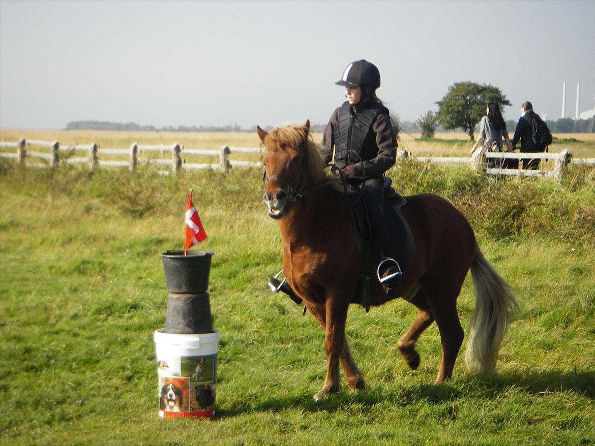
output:
[[[49,152],[39,152],[35,150],[29,150],[26,147],[37,146],[49,148]],[[96,169],[98,167],[128,167],[130,170],[134,170],[139,164],[153,164],[153,165],[165,165],[171,168],[171,173],[174,175],[180,172],[181,169],[222,169],[228,171],[231,167],[261,167],[261,162],[254,161],[241,161],[231,160],[231,153],[255,153],[261,155],[264,153],[264,149],[255,149],[252,147],[228,147],[224,145],[221,149],[186,149],[184,146],[174,143],[170,146],[165,145],[139,145],[133,143],[128,149],[102,149],[98,144],[88,145],[74,145],[74,146],[62,146],[59,142],[48,142],[40,140],[26,140],[21,139],[18,142],[0,142],[0,148],[15,148],[15,152],[0,152],[0,156],[4,158],[14,158],[17,162],[26,167],[56,167],[60,163],[64,164],[89,164],[90,168]],[[86,152],[86,156],[74,156],[79,155],[80,152]],[[156,159],[150,156],[139,156],[150,152],[161,152],[164,155],[166,152],[171,153],[170,159]],[[184,155],[203,155],[203,156],[214,156],[218,158],[218,162],[198,164],[198,163],[187,163]],[[127,160],[122,159],[106,159],[112,155],[126,155]],[[399,152],[399,156],[408,156],[407,152]],[[486,163],[484,162],[487,158],[497,159],[552,159],[555,162],[553,170],[533,170],[533,169],[499,169],[499,168],[487,168],[485,169]],[[580,158],[572,159],[572,155],[568,153],[568,149],[562,150],[560,153],[516,153],[516,152],[488,152],[481,153],[476,152],[473,156],[419,156],[416,157],[418,161],[430,161],[430,162],[446,162],[446,163],[462,163],[471,164],[475,169],[485,169],[490,175],[524,175],[524,176],[540,176],[540,177],[551,177],[560,178],[563,169],[569,162],[573,163],[588,163],[595,164],[595,158]],[[40,162],[40,161],[45,162]],[[522,163],[519,163],[521,165]],[[170,174],[170,171],[158,169],[160,174]]]

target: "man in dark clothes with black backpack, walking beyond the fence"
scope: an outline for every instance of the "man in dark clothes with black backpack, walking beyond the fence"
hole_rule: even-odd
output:
[[[528,100],[521,105],[521,119],[516,124],[515,136],[512,138],[512,150],[521,140],[522,152],[545,152],[552,143],[552,134],[546,123],[533,111],[533,105]],[[539,159],[522,159],[523,169],[537,169]]]

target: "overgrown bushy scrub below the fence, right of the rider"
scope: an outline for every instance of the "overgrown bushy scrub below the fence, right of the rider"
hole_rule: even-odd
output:
[[[390,176],[400,194],[431,192],[449,199],[476,232],[495,240],[537,236],[594,243],[593,167],[571,166],[565,179],[558,182],[494,178],[468,167],[405,158]]]

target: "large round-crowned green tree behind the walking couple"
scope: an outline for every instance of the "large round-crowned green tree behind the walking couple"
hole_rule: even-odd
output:
[[[469,139],[475,140],[475,125],[486,114],[486,105],[490,101],[499,104],[500,108],[512,105],[497,87],[469,81],[455,82],[444,98],[436,102],[440,123],[446,130],[460,127],[469,135]]]

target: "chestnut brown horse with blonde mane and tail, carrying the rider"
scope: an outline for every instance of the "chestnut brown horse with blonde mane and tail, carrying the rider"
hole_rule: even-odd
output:
[[[256,130],[265,148],[264,202],[278,221],[284,276],[324,331],[327,372],[314,395],[318,401],[339,391],[339,365],[351,390],[365,387],[345,337],[349,304],[361,301],[356,285],[365,266],[349,205],[325,170],[309,129],[306,121],[268,133],[258,126]],[[397,342],[402,359],[418,368],[417,340],[436,321],[442,346],[436,384],[452,378],[464,339],[456,299],[471,269],[475,309],[465,362],[477,373],[494,373],[500,343],[518,306],[511,285],[483,256],[471,225],[449,201],[436,194],[406,199],[402,213],[415,239],[415,256],[402,266],[396,291],[417,307],[418,316]],[[377,288],[372,306],[394,299]]]

